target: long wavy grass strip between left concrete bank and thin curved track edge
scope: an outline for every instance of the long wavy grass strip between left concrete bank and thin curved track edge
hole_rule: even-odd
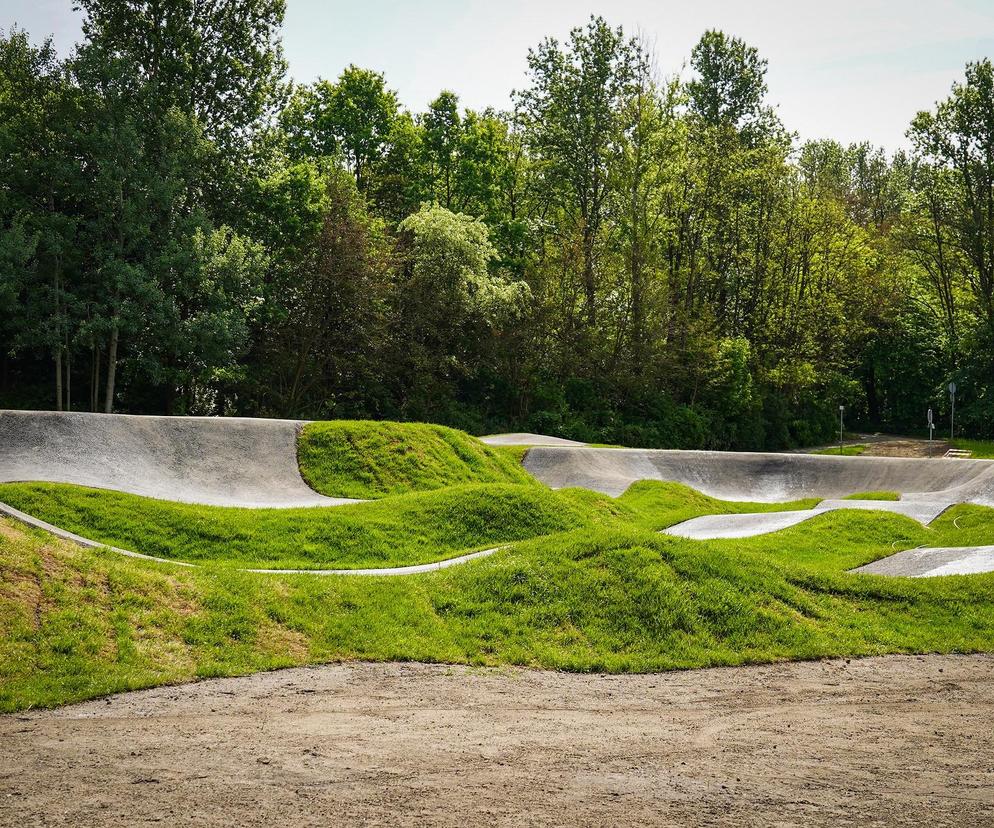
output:
[[[655,481],[636,483],[618,499],[538,484],[472,484],[306,509],[198,506],[62,483],[6,483],[0,501],[133,552],[264,569],[406,566],[605,522],[663,529],[703,514],[817,503],[730,503]]]

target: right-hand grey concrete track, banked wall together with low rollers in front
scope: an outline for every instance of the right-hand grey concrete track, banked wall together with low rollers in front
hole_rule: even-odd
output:
[[[579,486],[614,497],[639,480],[660,480],[683,483],[722,500],[827,498],[813,509],[705,515],[664,530],[694,540],[777,532],[836,509],[892,512],[928,524],[957,503],[994,506],[992,460],[550,446],[531,449],[524,465],[552,488]],[[839,499],[869,491],[894,491],[901,499]],[[989,572],[994,570],[991,549],[910,550],[854,571],[913,577]]]

